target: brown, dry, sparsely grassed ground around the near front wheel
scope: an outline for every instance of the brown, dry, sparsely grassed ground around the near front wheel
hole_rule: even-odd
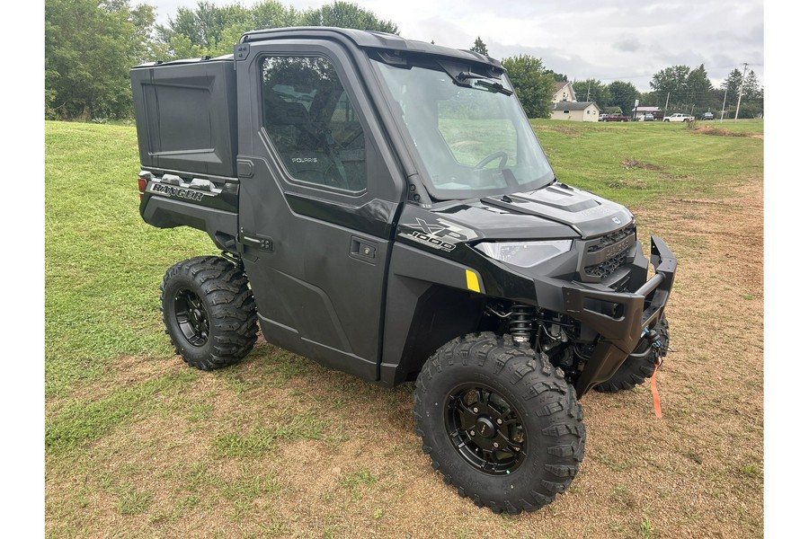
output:
[[[667,309],[672,351],[657,377],[662,420],[654,416],[648,383],[585,395],[584,462],[550,506],[494,515],[441,482],[413,432],[412,384],[378,388],[263,344],[227,375],[202,375],[177,397],[189,410],[204,397],[202,420],[188,410],[156,413],[93,442],[78,471],[51,467],[46,532],[760,537],[762,183],[728,188],[725,199],[662,199],[655,208],[633,208],[645,249],[650,234],[660,235],[680,259]],[[185,368],[179,359],[129,361],[116,376],[137,382]],[[287,379],[267,387],[280,368]],[[266,448],[258,456],[217,456],[228,427],[260,434],[287,421],[305,429],[300,421],[307,418],[321,421],[311,437],[272,438],[274,445],[269,435],[258,437],[255,443]],[[116,483],[121,477],[126,485]],[[122,510],[127,492],[135,499],[148,493],[147,503]],[[76,501],[64,501],[71,497]]]

